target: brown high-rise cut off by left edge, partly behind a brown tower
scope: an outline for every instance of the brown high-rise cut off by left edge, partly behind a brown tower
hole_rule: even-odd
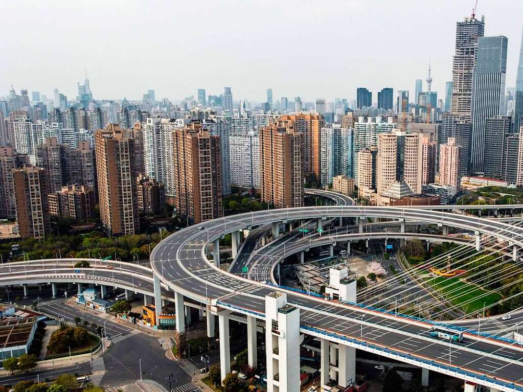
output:
[[[26,154],[18,154],[13,147],[0,147],[0,219],[16,218],[13,170],[28,164]]]

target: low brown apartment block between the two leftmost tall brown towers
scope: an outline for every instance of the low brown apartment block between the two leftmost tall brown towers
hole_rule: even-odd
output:
[[[74,220],[95,216],[95,191],[84,185],[69,185],[48,194],[49,215]]]

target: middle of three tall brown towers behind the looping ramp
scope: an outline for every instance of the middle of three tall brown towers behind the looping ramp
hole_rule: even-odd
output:
[[[220,136],[191,123],[174,131],[173,153],[178,214],[189,224],[222,216]]]

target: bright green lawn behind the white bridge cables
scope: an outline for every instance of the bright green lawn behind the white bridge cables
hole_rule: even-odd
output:
[[[485,291],[456,277],[431,278],[430,285],[466,313],[481,312],[483,304],[488,307],[503,298],[499,293]]]

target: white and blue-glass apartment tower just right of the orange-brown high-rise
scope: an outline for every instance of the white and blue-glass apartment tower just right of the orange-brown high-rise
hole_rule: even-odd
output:
[[[337,175],[354,177],[353,130],[336,123],[322,128],[321,163],[322,186],[332,183]]]

